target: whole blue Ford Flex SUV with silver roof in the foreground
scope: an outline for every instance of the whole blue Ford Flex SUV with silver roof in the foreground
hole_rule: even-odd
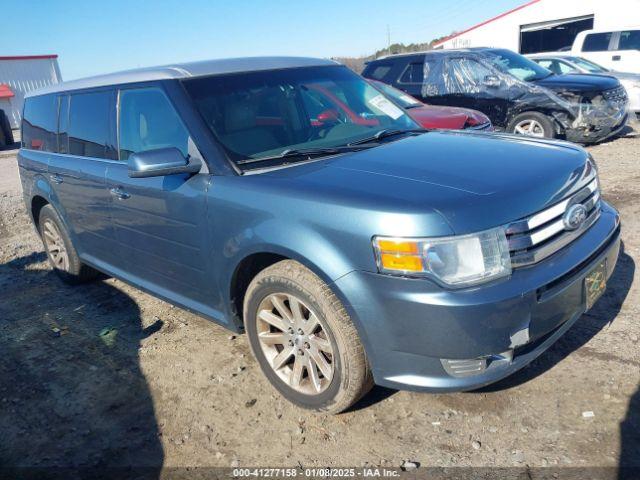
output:
[[[582,148],[422,130],[327,60],[46,87],[18,162],[63,280],[101,271],[246,331],[274,387],[326,412],[373,383],[512,374],[597,300],[620,243]]]

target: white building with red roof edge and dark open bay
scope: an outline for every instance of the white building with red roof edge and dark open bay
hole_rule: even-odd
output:
[[[532,0],[445,38],[434,48],[498,47],[520,53],[549,52],[571,46],[583,30],[638,25],[640,0]]]

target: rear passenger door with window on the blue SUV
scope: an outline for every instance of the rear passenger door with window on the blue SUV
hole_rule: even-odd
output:
[[[58,207],[80,256],[109,264],[115,236],[105,173],[116,158],[115,94],[110,89],[64,94],[58,104],[58,148],[49,162]]]

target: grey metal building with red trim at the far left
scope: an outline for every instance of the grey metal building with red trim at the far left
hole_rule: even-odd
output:
[[[11,128],[20,127],[27,92],[61,81],[57,55],[0,57],[0,110]]]

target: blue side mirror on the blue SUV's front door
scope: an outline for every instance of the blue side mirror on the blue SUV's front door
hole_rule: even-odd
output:
[[[179,173],[195,174],[202,166],[199,161],[189,161],[175,147],[158,148],[134,153],[127,162],[131,178],[163,177]]]

